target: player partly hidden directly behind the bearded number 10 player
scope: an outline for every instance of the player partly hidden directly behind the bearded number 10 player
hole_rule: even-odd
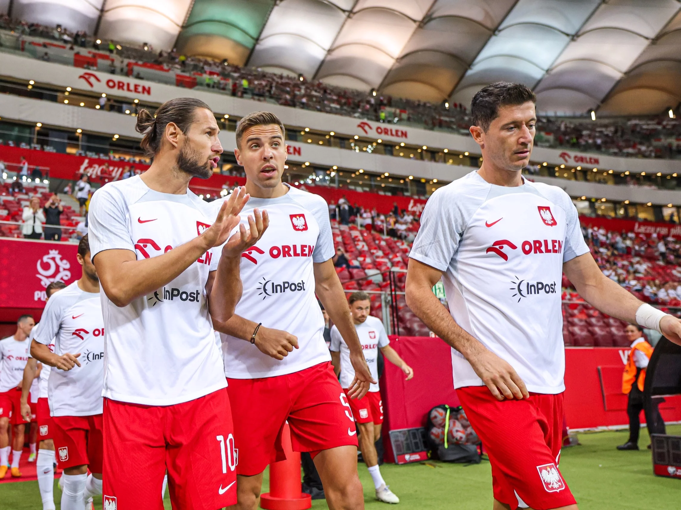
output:
[[[31,342],[31,356],[57,369],[50,370],[48,403],[63,469],[63,510],[89,509],[101,494],[104,319],[87,236],[76,257],[82,276],[47,302]]]

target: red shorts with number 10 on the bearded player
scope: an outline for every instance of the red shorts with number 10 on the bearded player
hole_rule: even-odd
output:
[[[227,390],[166,406],[104,398],[104,436],[104,508],[163,510],[166,469],[174,509],[236,504],[238,452]]]

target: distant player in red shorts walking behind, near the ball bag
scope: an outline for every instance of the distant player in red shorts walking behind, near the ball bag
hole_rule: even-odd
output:
[[[388,361],[402,369],[407,375],[407,381],[414,376],[414,371],[409,367],[405,360],[388,345],[390,340],[385,334],[383,322],[370,316],[371,301],[366,292],[353,292],[348,299],[350,313],[355,323],[357,336],[362,343],[362,352],[366,359],[371,376],[378,381],[377,359],[378,351],[381,350],[383,356]],[[331,328],[331,362],[337,375],[340,375],[340,386],[348,388],[352,379],[355,377],[355,370],[350,362],[350,351],[343,337],[336,326]],[[347,393],[347,389],[344,390]],[[376,498],[384,503],[400,503],[400,498],[393,494],[392,490],[385,485],[379,468],[379,458],[376,452],[376,441],[381,437],[381,424],[383,424],[383,403],[381,402],[381,392],[378,384],[372,384],[367,394],[358,399],[351,398],[349,401],[352,415],[355,417],[359,427],[360,449],[362,458],[368,468],[369,474],[374,481]]]

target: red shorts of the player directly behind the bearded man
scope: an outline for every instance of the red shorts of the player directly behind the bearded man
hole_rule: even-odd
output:
[[[101,473],[101,414],[52,416],[52,439],[60,469],[87,464],[92,473]]]

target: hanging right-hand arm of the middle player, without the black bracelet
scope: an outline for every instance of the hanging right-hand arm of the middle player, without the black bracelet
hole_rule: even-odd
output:
[[[329,314],[329,318],[338,328],[340,336],[345,340],[345,344],[350,350],[350,362],[355,369],[355,378],[350,384],[348,396],[350,398],[362,398],[368,392],[370,385],[376,384],[371,377],[364,353],[362,343],[357,336],[357,330],[350,316],[350,309],[347,306],[347,299],[343,291],[343,284],[338,279],[336,268],[332,259],[326,262],[315,262],[315,292],[319,301],[324,305],[324,309]]]

